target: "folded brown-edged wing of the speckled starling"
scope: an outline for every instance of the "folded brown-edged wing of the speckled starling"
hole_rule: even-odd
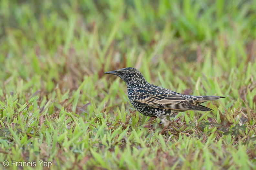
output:
[[[150,93],[139,90],[133,93],[133,99],[136,103],[149,106],[152,108],[173,109],[173,110],[202,110],[210,111],[211,109],[190,103],[186,96],[179,93]]]

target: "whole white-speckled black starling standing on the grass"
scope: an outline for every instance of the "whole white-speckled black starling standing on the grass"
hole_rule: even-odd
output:
[[[145,116],[160,118],[165,127],[170,124],[166,116],[187,110],[211,111],[212,109],[201,103],[224,98],[222,96],[189,96],[150,84],[139,70],[132,67],[105,72],[105,74],[114,74],[123,79],[133,107]]]

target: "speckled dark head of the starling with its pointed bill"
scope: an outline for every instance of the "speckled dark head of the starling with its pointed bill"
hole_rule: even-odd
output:
[[[127,84],[127,86],[146,82],[142,73],[132,67],[105,72],[105,74],[117,75],[118,77],[123,79],[123,81]]]

